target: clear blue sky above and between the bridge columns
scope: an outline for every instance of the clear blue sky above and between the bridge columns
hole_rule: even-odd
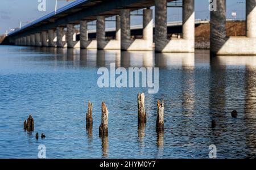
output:
[[[46,0],[46,11],[38,11],[38,0],[1,0],[0,5],[0,34],[10,28],[19,27],[19,23],[32,22],[54,11],[55,0]],[[241,3],[242,2],[242,3]],[[58,2],[58,8],[71,2]],[[208,0],[195,0],[196,18],[209,19]],[[237,18],[245,18],[245,0],[227,0],[227,17],[232,18],[231,13],[237,12]],[[181,20],[181,9],[170,8],[168,10],[168,21]],[[141,17],[133,17],[131,24],[141,24]],[[24,23],[26,24],[26,23]],[[113,27],[108,24],[107,27]]]

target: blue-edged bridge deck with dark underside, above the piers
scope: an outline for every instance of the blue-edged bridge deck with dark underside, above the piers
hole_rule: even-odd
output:
[[[171,2],[174,0],[167,0]],[[64,6],[55,12],[24,25],[22,29],[11,32],[9,36],[30,35],[32,33],[46,31],[67,23],[79,24],[80,20],[96,20],[98,15],[113,16],[120,13],[122,8],[130,8],[131,11],[154,6],[154,0],[77,0]]]

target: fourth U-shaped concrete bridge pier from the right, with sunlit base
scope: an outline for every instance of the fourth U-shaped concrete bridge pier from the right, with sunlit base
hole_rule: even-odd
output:
[[[115,40],[106,40],[105,16],[97,17],[97,48],[105,50],[121,49],[120,16],[116,16]]]

